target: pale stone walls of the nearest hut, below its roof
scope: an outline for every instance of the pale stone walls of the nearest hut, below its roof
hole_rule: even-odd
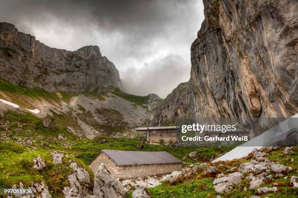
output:
[[[96,173],[96,170],[98,169],[101,163],[103,163],[107,167],[107,169],[110,171],[113,177],[121,179],[161,175],[171,173],[174,170],[182,169],[181,163],[117,166],[105,153],[101,153],[90,164],[93,173]]]

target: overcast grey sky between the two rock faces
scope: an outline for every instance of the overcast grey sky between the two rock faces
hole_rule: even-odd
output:
[[[124,91],[165,98],[190,77],[201,0],[2,0],[0,20],[67,50],[97,45]]]

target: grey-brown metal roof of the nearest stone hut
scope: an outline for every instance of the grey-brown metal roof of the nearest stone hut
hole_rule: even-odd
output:
[[[166,151],[123,151],[123,150],[101,150],[117,165],[152,165],[182,163]]]

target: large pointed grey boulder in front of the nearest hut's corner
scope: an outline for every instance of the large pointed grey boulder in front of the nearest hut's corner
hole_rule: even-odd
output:
[[[94,178],[93,195],[98,198],[125,198],[122,184],[112,177],[104,164],[99,165]]]

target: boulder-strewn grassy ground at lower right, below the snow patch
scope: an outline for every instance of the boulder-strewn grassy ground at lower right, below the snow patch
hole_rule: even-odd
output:
[[[186,166],[147,192],[152,197],[296,198],[297,160],[297,148],[264,147],[239,160]],[[185,183],[195,189],[187,192]]]

